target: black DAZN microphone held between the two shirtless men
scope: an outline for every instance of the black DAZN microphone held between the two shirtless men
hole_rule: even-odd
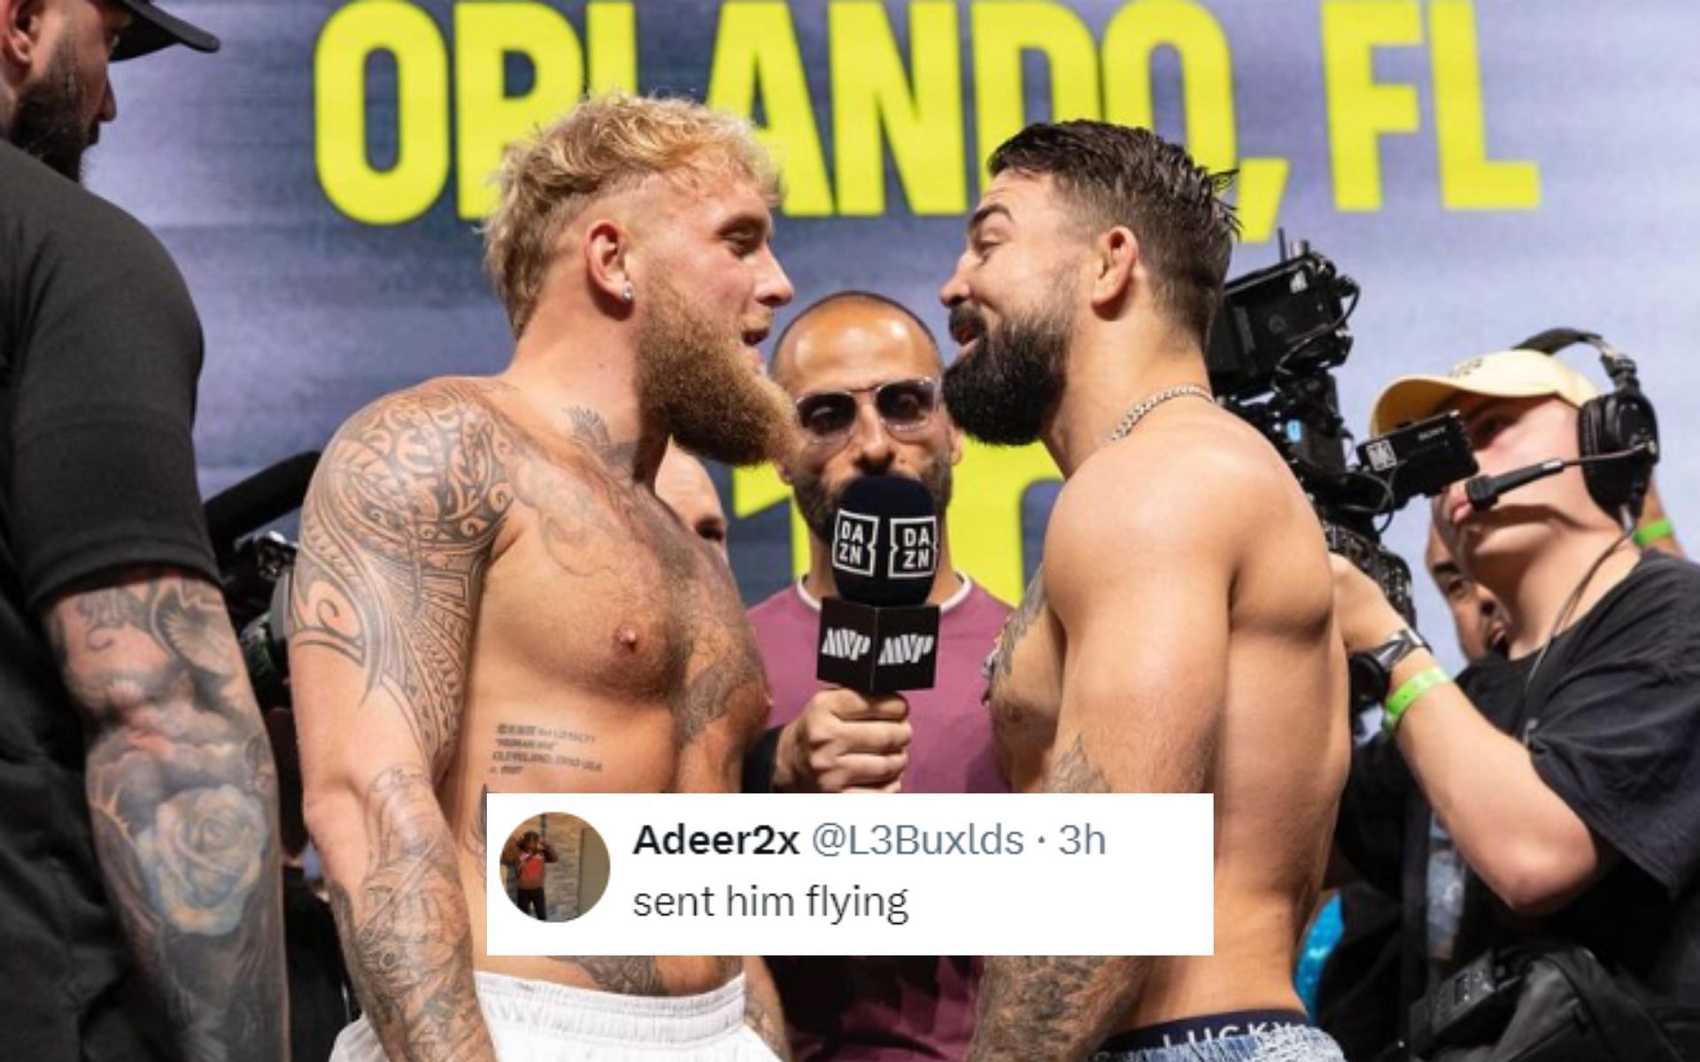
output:
[[[814,675],[862,693],[930,690],[938,663],[938,515],[925,484],[865,476],[833,520],[833,581],[821,602]]]

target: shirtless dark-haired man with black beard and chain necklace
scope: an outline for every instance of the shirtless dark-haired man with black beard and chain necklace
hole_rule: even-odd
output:
[[[988,958],[971,1059],[1178,1062],[1209,1040],[1338,1060],[1292,969],[1346,777],[1346,669],[1321,527],[1207,389],[1219,182],[1100,122],[1028,127],[991,173],[940,292],[962,345],[945,403],[969,435],[1042,438],[1064,476],[989,661],[1003,763],[1023,792],[1214,794],[1216,953]]]

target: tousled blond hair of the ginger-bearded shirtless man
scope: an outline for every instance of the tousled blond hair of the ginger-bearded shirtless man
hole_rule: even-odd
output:
[[[588,97],[552,126],[513,143],[484,223],[484,270],[513,335],[537,309],[561,233],[583,211],[646,177],[741,177],[770,201],[779,178],[745,119],[678,99]]]

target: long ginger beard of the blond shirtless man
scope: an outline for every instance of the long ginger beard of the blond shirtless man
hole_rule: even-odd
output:
[[[714,321],[661,279],[639,296],[638,403],[678,445],[734,466],[785,450],[790,401],[751,367],[736,321]]]

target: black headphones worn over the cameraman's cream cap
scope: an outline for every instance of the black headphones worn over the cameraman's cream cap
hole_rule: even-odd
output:
[[[1627,510],[1635,522],[1647,498],[1652,466],[1659,462],[1659,418],[1652,413],[1652,401],[1640,393],[1635,362],[1598,333],[1578,328],[1549,328],[1528,336],[1518,348],[1556,357],[1576,343],[1600,352],[1600,364],[1613,384],[1613,391],[1583,403],[1578,418],[1583,481],[1595,503],[1615,520],[1622,520]],[[1617,457],[1598,460],[1612,455]]]

